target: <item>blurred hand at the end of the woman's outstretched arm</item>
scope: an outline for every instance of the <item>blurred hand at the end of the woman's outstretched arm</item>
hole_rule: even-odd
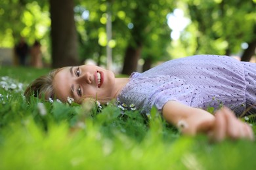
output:
[[[223,141],[225,138],[254,140],[251,126],[236,118],[232,110],[226,107],[216,112],[215,122],[208,134],[213,141]]]

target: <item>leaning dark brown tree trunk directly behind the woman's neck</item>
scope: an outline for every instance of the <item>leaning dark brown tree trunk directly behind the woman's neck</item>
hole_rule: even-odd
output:
[[[125,52],[125,60],[123,61],[123,75],[131,75],[133,71],[137,71],[137,63],[140,58],[142,46],[128,46]]]

